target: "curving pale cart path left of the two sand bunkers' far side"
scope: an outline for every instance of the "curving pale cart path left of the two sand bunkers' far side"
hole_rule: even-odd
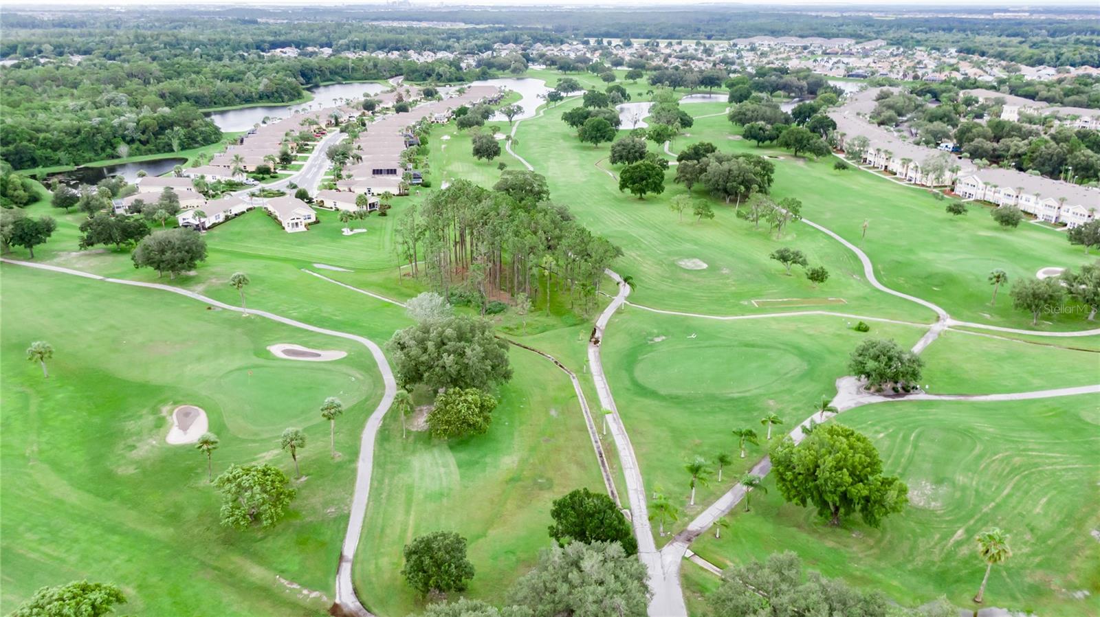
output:
[[[243,309],[238,306],[227,305],[224,302],[215,300],[201,294],[190,291],[187,289],[180,289],[179,287],[173,287],[170,285],[162,285],[160,283],[142,283],[138,280],[125,280],[121,278],[108,278],[99,276],[96,274],[81,272],[78,269],[70,269],[59,266],[52,266],[47,264],[36,264],[31,262],[21,262],[9,258],[0,258],[3,263],[14,264],[20,266],[32,267],[36,269],[44,269],[61,274],[68,274],[73,276],[81,276],[84,278],[91,278],[96,280],[103,280],[107,283],[116,283],[119,285],[130,285],[133,287],[144,287],[146,289],[157,289],[161,291],[170,291],[173,294],[178,294],[180,296],[186,296],[196,300],[200,300],[210,306],[216,306],[220,309],[232,310],[238,312],[243,312]],[[272,321],[277,321],[279,323],[285,323],[286,326],[292,326],[294,328],[300,328],[302,330],[309,330],[311,332],[318,332],[321,334],[328,334],[331,337],[339,337],[341,339],[348,339],[350,341],[355,341],[356,343],[365,346],[371,355],[374,356],[375,363],[378,365],[378,372],[382,374],[382,381],[385,385],[385,390],[382,395],[382,400],[378,401],[378,406],[374,408],[374,412],[367,418],[366,425],[363,427],[363,433],[360,437],[359,445],[359,459],[355,462],[355,488],[352,493],[351,502],[351,513],[348,515],[348,530],[344,533],[343,546],[340,550],[340,563],[337,566],[337,604],[340,604],[345,612],[351,613],[358,617],[373,617],[371,613],[359,602],[359,597],[355,596],[355,590],[352,584],[351,577],[351,566],[352,558],[355,554],[355,548],[359,546],[359,539],[363,531],[363,519],[366,516],[366,503],[367,497],[371,492],[371,471],[374,466],[374,442],[378,434],[378,427],[382,426],[382,419],[385,417],[386,411],[389,410],[389,406],[394,400],[394,395],[397,393],[397,383],[394,379],[394,374],[389,368],[389,363],[386,361],[386,356],[382,353],[382,349],[378,348],[374,341],[360,337],[358,334],[351,334],[348,332],[340,332],[338,330],[329,330],[327,328],[319,328],[317,326],[310,326],[309,323],[302,323],[301,321],[290,319],[288,317],[283,317],[280,315],[275,315],[273,312],[250,309],[249,315],[263,317],[271,319]]]

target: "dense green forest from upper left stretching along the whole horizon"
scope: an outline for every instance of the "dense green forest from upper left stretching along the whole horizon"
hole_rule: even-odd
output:
[[[399,20],[420,22],[420,26],[395,25]],[[432,26],[425,27],[424,20],[431,20]],[[499,43],[558,44],[576,36],[632,36],[641,42],[647,37],[773,34],[858,40],[880,36],[905,45],[959,46],[1024,64],[1097,66],[1098,23],[1058,19],[1053,13],[997,20],[943,20],[931,15],[877,20],[868,15],[734,8],[630,12],[365,8],[276,11],[262,7],[205,8],[187,13],[163,9],[56,13],[8,10],[0,15],[4,32],[0,57],[8,63],[0,88],[4,110],[0,119],[0,158],[15,169],[28,169],[208,145],[221,139],[221,133],[202,110],[299,101],[308,96],[309,87],[326,82],[404,75],[410,81],[453,84],[492,77],[517,66],[521,70],[532,60],[562,70],[585,68],[581,58],[560,59],[544,54],[537,58],[526,53],[524,57],[482,57],[476,67],[464,68],[458,57],[446,55],[432,62],[384,55],[393,52],[469,54],[492,49]],[[285,47],[298,49],[298,55],[271,53]],[[640,59],[631,60],[629,66],[661,68]],[[1093,85],[1080,80],[1020,81],[1009,88],[1012,93],[1037,100],[1100,107]]]

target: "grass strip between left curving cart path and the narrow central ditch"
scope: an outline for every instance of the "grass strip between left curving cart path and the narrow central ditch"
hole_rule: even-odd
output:
[[[476,574],[466,597],[502,602],[549,547],[550,503],[582,486],[603,488],[581,408],[564,373],[513,349],[516,376],[499,388],[486,434],[451,443],[402,439],[400,417],[378,437],[355,585],[378,615],[407,615],[422,601],[400,576],[402,549],[431,531],[470,542]]]

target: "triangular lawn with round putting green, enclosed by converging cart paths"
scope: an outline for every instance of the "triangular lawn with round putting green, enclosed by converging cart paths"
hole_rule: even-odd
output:
[[[835,317],[768,318],[722,322],[680,319],[629,308],[610,322],[603,362],[642,475],[682,508],[682,528],[737,482],[766,452],[760,418],[778,414],[785,421],[774,434],[813,412],[834,382],[845,374],[848,353],[867,337],[893,338],[911,345],[923,329],[882,324],[869,333]],[[813,335],[806,335],[813,332]],[[694,338],[690,338],[694,335]],[[738,458],[733,429],[752,428],[760,445]],[[689,506],[689,475],[694,456],[712,462],[725,452],[735,462],[723,482],[698,487]],[[716,480],[712,475],[712,480]],[[666,538],[667,540],[667,538]],[[658,538],[658,543],[663,540]]]

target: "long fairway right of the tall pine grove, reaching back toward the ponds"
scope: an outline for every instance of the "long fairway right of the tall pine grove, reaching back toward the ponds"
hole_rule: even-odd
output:
[[[615,267],[635,277],[632,301],[730,315],[778,310],[757,308],[751,304],[754,299],[838,297],[847,301],[842,312],[914,320],[934,317],[927,309],[875,291],[864,280],[862,267],[850,251],[805,225],[792,224],[777,239],[767,229],[755,229],[752,223],[737,219],[732,207],[717,202],[714,220],[696,223],[688,212],[681,221],[669,209],[671,198],[685,192],[681,185],[672,183],[674,168],[668,172],[666,190],[660,196],[639,200],[620,192],[617,181],[597,167],[607,156],[607,146],[596,148],[580,143],[574,131],[560,120],[561,112],[575,104],[565,102],[541,118],[525,120],[517,132],[516,150],[547,176],[551,198],[569,205],[585,225],[623,249],[624,256]],[[448,150],[451,147],[448,145]],[[657,148],[652,144],[650,147]],[[702,192],[694,198],[710,199]],[[814,288],[801,268],[787,276],[783,266],[769,258],[780,246],[802,250],[812,264],[829,268],[832,278]],[[689,263],[686,260],[698,260],[706,267],[686,269],[682,265]]]

